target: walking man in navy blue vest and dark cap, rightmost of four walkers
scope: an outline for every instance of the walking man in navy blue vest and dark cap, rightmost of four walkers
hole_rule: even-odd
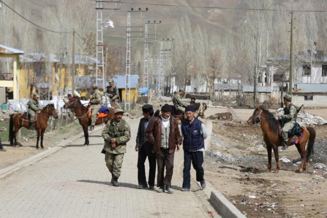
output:
[[[187,119],[183,120],[181,125],[184,150],[183,186],[181,190],[190,191],[191,163],[196,171],[196,181],[200,182],[202,188],[206,187],[202,164],[204,139],[207,137],[207,130],[201,120],[194,117],[195,109],[193,106],[185,108],[185,115]]]

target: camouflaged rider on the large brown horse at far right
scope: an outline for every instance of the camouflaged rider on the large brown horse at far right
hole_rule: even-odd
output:
[[[278,114],[285,121],[285,125],[282,129],[282,137],[284,140],[284,146],[282,150],[286,150],[288,146],[288,132],[293,129],[296,123],[297,111],[296,107],[292,104],[292,96],[287,94],[284,96],[284,114]]]

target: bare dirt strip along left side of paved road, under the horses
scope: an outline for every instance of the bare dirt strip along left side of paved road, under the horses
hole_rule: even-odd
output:
[[[24,130],[25,131],[25,130]],[[36,150],[36,137],[33,135],[33,131],[26,130],[31,132],[30,137],[24,137],[21,140],[18,140],[19,147],[11,147],[9,142],[2,139],[4,148],[6,152],[0,152],[0,168],[5,168],[7,166],[13,165],[21,160],[24,160],[32,155],[40,153],[45,149],[53,147],[55,144],[59,143],[61,140],[64,140],[72,135],[81,133],[82,127],[78,123],[69,124],[67,126],[61,127],[53,132],[46,132],[43,138],[44,149]]]

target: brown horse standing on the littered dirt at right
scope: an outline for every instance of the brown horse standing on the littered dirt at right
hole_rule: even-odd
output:
[[[268,110],[263,109],[262,107],[258,106],[253,115],[247,120],[249,124],[257,124],[261,122],[261,129],[264,134],[264,141],[267,145],[267,152],[268,152],[268,168],[267,171],[269,172],[271,169],[271,149],[274,150],[275,160],[277,164],[277,168],[275,169],[274,173],[278,173],[279,169],[281,169],[281,164],[279,163],[278,157],[278,146],[283,146],[283,138],[279,133],[279,122],[275,119],[274,115],[270,113]],[[316,137],[316,131],[312,127],[302,128],[302,139],[299,143],[296,143],[295,146],[297,151],[301,155],[302,162],[299,166],[298,172],[301,173],[302,171],[306,170],[307,161],[310,158],[310,155],[313,151],[313,145]],[[292,141],[294,138],[291,137],[288,140],[288,145],[292,146]],[[306,150],[306,145],[308,144],[308,148]]]

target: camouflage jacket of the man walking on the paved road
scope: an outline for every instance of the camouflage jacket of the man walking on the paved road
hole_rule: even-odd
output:
[[[114,122],[114,119],[111,119],[103,129],[102,137],[105,141],[103,149],[106,152],[112,154],[126,153],[126,143],[131,138],[129,124],[124,119],[118,124]],[[116,139],[116,148],[111,148],[110,140],[112,138]]]

